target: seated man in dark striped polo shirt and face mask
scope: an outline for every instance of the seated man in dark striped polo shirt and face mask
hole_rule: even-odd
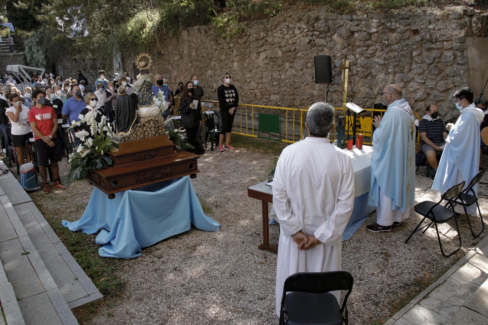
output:
[[[447,138],[446,123],[438,115],[439,107],[437,105],[427,105],[427,114],[419,123],[420,147],[427,156],[428,164],[434,170],[431,174],[432,178],[439,165],[435,152],[444,149]]]

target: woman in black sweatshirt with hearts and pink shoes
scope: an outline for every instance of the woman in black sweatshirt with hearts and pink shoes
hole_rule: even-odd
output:
[[[222,131],[220,132],[219,151],[234,150],[230,146],[230,133],[232,132],[232,123],[239,105],[239,94],[236,87],[230,84],[232,77],[228,72],[222,74],[223,84],[217,89],[217,98],[220,105],[220,119],[222,121]],[[222,146],[225,136],[225,145]]]

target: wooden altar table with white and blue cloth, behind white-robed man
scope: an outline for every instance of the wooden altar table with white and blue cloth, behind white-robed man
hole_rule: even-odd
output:
[[[376,210],[376,206],[367,205],[369,188],[371,183],[371,155],[373,153],[372,146],[363,145],[363,149],[359,150],[355,146],[352,150],[344,149],[349,155],[354,170],[354,208],[352,210],[351,218],[347,224],[346,230],[342,235],[342,240],[349,239],[361,224],[366,220],[367,216]],[[268,203],[273,203],[273,188],[266,184],[267,181],[250,186],[247,189],[247,196],[260,200],[263,209],[263,244],[258,246],[259,249],[267,249],[269,251],[278,252],[278,245],[269,244],[269,225],[268,225]],[[274,215],[271,210],[271,217]],[[271,220],[269,224],[276,223]]]

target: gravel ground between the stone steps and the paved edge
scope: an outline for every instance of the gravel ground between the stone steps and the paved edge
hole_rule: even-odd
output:
[[[102,307],[88,324],[277,324],[276,254],[257,249],[262,242],[261,202],[247,197],[247,187],[266,179],[274,159],[272,154],[251,149],[207,151],[199,159],[202,172],[192,183],[213,210],[210,216],[222,225],[221,230],[192,228],[143,249],[140,258],[117,263],[127,282],[125,294],[116,301],[117,306]],[[66,166],[61,172],[67,172]],[[425,175],[425,168],[419,173]],[[68,191],[83,183],[74,183]],[[431,183],[417,174],[416,203],[435,200]],[[68,196],[68,191],[62,194]],[[487,194],[487,189],[480,189],[485,215]],[[77,213],[65,219],[78,218]],[[365,225],[374,223],[375,218],[372,213],[343,243],[343,269],[355,280],[348,301],[351,324],[381,324],[444,274],[486,233],[474,239],[466,217],[460,217],[463,248],[446,259],[433,229],[415,234],[405,244],[421,220],[413,207],[410,218],[389,233],[366,230]],[[474,223],[480,225],[479,220]],[[440,225],[447,250],[457,243],[451,225]],[[278,225],[270,226],[272,244],[278,236]]]

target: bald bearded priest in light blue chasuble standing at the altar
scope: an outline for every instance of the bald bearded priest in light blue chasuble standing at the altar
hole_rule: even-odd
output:
[[[371,156],[371,189],[368,204],[377,206],[372,232],[391,231],[408,218],[415,199],[415,124],[410,105],[402,99],[402,89],[387,85],[382,102],[388,108],[383,118],[376,116]]]

